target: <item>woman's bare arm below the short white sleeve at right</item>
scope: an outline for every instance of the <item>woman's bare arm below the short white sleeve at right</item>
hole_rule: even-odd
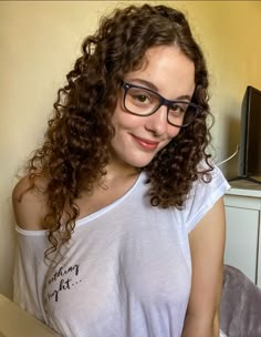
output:
[[[210,336],[212,330],[211,337],[219,336],[225,236],[225,207],[220,198],[189,234],[192,283],[184,336]],[[197,329],[201,331],[198,335]]]

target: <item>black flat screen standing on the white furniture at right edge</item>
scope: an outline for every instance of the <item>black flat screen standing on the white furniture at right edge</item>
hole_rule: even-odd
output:
[[[241,104],[238,178],[261,183],[261,91],[251,85]]]

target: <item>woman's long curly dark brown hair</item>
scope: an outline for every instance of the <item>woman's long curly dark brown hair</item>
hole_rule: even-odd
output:
[[[102,18],[97,31],[83,41],[82,55],[67,73],[66,85],[58,92],[44,143],[29,162],[32,181],[39,174],[48,177],[49,214],[43,226],[49,229],[50,252],[71,238],[79,216],[75,198],[83,191],[91,193],[94,183],[106,174],[114,136],[111,119],[122,80],[143,65],[149,48],[174,44],[195,64],[192,101],[202,111],[143,168],[152,205],[181,207],[192,182],[211,171],[207,154],[210,133],[206,119],[211,115],[208,72],[185,16],[165,6],[116,9]],[[203,175],[198,172],[202,160],[208,164]],[[65,208],[67,219],[62,224]]]

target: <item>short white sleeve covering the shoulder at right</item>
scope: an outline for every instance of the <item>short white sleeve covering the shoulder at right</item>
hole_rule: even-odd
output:
[[[210,182],[198,180],[194,183],[184,210],[184,221],[188,233],[229,188],[230,185],[217,166],[211,172]]]

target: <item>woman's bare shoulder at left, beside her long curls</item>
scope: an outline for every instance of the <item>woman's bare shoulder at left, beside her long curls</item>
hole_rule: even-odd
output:
[[[44,190],[46,180],[30,176],[22,177],[13,188],[12,204],[15,222],[19,227],[28,231],[43,229],[42,221],[48,212]]]

